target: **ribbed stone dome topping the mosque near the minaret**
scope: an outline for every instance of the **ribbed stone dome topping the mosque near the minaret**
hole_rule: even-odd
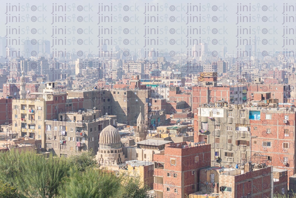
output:
[[[121,144],[120,134],[118,130],[112,125],[108,125],[107,127],[105,127],[100,133],[99,144],[100,145]]]

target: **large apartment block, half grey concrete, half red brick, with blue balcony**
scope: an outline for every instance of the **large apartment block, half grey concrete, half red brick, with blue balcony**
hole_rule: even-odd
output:
[[[194,141],[211,144],[212,166],[234,167],[260,155],[267,165],[295,174],[293,108],[264,101],[217,105],[200,107],[194,122]]]

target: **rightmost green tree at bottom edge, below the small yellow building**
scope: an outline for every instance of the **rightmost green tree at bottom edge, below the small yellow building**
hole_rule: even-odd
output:
[[[121,175],[121,188],[115,198],[153,198],[155,197],[147,185],[138,177]]]

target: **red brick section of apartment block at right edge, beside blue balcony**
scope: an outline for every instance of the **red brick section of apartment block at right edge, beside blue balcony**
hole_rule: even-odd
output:
[[[268,156],[274,168],[287,169],[288,176],[294,175],[295,112],[286,108],[263,108],[257,112],[259,117],[250,119],[251,156],[260,152]]]

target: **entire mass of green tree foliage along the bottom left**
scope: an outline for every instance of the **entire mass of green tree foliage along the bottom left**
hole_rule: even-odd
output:
[[[92,151],[68,158],[35,152],[0,153],[0,197],[152,198],[139,178],[116,177],[96,167]],[[7,192],[2,195],[2,192]],[[10,194],[9,194],[10,193]],[[15,194],[14,194],[15,193]]]

